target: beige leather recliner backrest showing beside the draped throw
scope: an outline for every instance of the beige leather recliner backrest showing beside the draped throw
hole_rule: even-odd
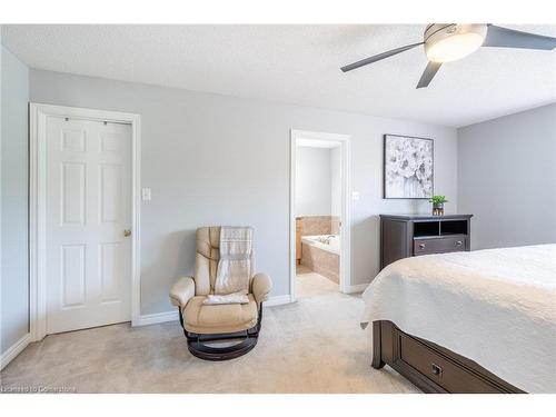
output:
[[[195,294],[197,296],[206,296],[215,291],[216,272],[218,260],[220,259],[220,226],[198,228],[196,232],[196,246]],[[254,265],[252,251],[251,265]],[[250,287],[251,282],[249,281]]]

